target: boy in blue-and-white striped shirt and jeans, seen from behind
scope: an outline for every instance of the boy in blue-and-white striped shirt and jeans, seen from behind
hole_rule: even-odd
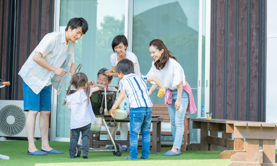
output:
[[[134,66],[129,59],[122,59],[116,65],[119,81],[118,92],[120,96],[114,103],[111,111],[114,117],[117,116],[116,108],[125,98],[125,94],[129,98],[130,105],[130,156],[123,159],[148,159],[150,154],[150,128],[152,119],[152,102],[150,100],[146,81],[154,81],[160,86],[164,92],[165,87],[161,81],[155,76],[143,76],[134,74]],[[162,98],[162,96],[159,96]],[[143,147],[142,155],[137,157],[137,135],[142,132]]]

